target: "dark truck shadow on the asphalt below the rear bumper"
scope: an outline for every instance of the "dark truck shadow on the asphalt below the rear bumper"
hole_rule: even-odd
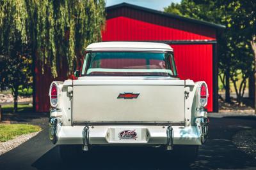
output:
[[[191,169],[189,164],[173,156],[164,157],[163,151],[159,150],[103,148],[93,151],[90,156],[83,154],[80,159],[65,163],[58,153],[58,146],[55,146],[32,166],[36,169]]]

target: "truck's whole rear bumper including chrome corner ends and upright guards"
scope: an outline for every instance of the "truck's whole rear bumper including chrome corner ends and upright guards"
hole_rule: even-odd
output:
[[[184,125],[74,125],[62,126],[61,118],[50,118],[49,137],[57,145],[202,145],[208,135],[209,120],[205,117],[195,119],[195,126]],[[140,141],[116,141],[116,129],[141,129]]]

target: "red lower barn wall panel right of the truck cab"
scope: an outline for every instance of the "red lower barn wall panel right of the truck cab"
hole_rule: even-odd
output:
[[[209,89],[207,109],[212,111],[212,45],[171,45],[180,79],[205,81]]]

